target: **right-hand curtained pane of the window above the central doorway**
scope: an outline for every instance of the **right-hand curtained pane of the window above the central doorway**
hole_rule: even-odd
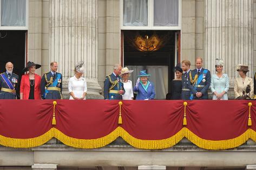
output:
[[[178,26],[179,0],[154,1],[154,26]]]

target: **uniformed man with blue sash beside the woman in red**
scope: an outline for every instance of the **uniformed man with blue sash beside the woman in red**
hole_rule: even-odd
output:
[[[41,80],[42,99],[62,99],[62,75],[57,73],[57,62],[51,62],[51,71],[44,73]]]

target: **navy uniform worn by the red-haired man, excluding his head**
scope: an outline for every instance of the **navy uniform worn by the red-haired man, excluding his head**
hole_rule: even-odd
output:
[[[181,76],[181,99],[182,100],[190,100],[191,96],[191,91],[189,90],[188,84],[190,84],[190,78],[189,78],[189,73],[191,70],[188,72],[185,72]]]

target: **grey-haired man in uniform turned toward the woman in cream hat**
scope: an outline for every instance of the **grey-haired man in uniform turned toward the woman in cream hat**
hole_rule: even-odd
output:
[[[122,66],[116,64],[112,74],[106,76],[104,80],[104,99],[108,100],[122,100],[122,94],[125,93],[123,89],[122,78],[119,76],[122,71]]]

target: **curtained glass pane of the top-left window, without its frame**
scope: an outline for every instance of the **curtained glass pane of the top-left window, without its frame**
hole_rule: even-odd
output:
[[[1,25],[25,26],[26,0],[2,0]]]

